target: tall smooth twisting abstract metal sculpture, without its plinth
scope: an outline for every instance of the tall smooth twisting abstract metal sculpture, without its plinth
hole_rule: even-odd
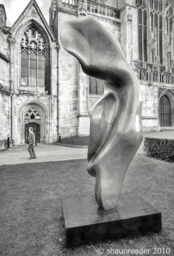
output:
[[[96,177],[99,207],[113,209],[143,137],[140,85],[112,31],[91,16],[64,22],[61,41],[83,72],[105,80],[105,93],[89,113],[87,171]]]

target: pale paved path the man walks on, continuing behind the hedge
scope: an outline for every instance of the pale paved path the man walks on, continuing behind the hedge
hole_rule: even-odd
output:
[[[174,139],[174,131],[145,132],[143,137]],[[143,154],[143,141],[137,154]],[[36,159],[29,160],[28,145],[22,145],[10,150],[0,151],[0,166],[3,164],[42,163],[50,161],[64,161],[72,159],[86,159],[87,148],[64,147],[54,144],[38,144]]]

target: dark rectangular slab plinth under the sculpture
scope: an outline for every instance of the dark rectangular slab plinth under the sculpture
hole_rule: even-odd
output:
[[[94,196],[62,201],[66,245],[162,230],[161,212],[140,196],[121,193],[115,209],[99,209]]]

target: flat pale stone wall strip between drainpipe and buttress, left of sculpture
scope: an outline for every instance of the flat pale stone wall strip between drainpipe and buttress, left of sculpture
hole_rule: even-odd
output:
[[[59,12],[58,18],[60,29],[63,22],[76,19],[76,16]],[[59,44],[61,44],[60,38]],[[78,114],[77,93],[77,61],[61,45],[59,51],[59,132],[61,132],[62,138],[76,136]]]

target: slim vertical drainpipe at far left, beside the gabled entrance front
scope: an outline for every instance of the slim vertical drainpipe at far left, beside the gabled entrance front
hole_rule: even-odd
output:
[[[15,146],[13,140],[13,86],[12,86],[12,45],[15,43],[15,38],[8,36],[8,41],[10,42],[10,92],[11,92],[11,141],[12,145]]]

